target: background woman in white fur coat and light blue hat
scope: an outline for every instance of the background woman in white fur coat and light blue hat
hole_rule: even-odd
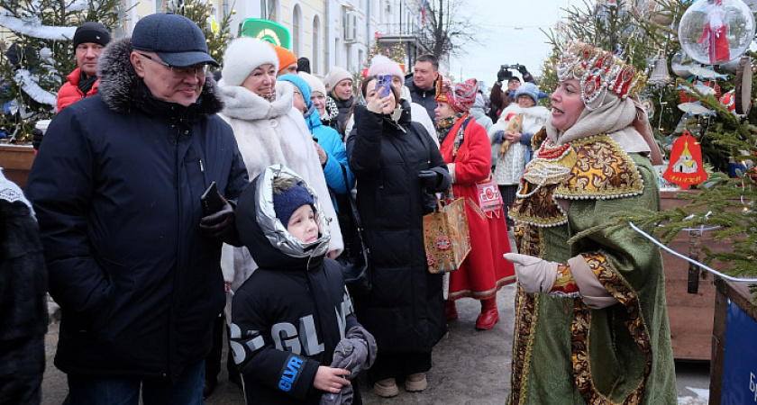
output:
[[[541,130],[550,116],[549,110],[539,102],[539,87],[533,83],[525,83],[515,91],[517,103],[510,103],[499,115],[496,124],[488,129],[489,140],[495,150],[499,150],[502,142],[508,141],[510,146],[504,154],[497,154],[497,165],[492,175],[499,185],[499,193],[505,203],[505,211],[515,202],[515,193],[523,177],[525,164],[531,160],[533,152],[531,139]],[[523,129],[521,131],[507,131],[510,120],[523,114]],[[513,229],[513,220],[507,216],[507,228]]]

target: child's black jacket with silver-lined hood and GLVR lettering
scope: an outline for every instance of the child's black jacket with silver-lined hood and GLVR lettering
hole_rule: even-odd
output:
[[[319,218],[326,231],[314,242],[289,234],[270,203],[271,184],[279,175],[302,178],[271,167],[277,169],[256,177],[237,207],[242,242],[259,267],[234,293],[234,362],[248,404],[315,405],[324,393],[313,387],[318,367],[331,365],[337,343],[358,322],[339,266],[324,258],[329,242],[324,216]]]

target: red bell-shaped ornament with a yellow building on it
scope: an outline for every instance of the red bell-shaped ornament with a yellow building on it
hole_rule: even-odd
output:
[[[702,166],[702,150],[699,148],[699,142],[688,130],[673,142],[670,164],[662,176],[670,183],[679,184],[683,189],[689,188],[691,184],[699,184],[707,180],[707,172]]]

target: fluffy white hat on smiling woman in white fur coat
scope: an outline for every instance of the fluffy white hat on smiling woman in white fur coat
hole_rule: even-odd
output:
[[[221,75],[227,85],[242,85],[252,70],[262,65],[273,65],[278,72],[278,55],[269,42],[241,37],[233,40],[223,53]]]

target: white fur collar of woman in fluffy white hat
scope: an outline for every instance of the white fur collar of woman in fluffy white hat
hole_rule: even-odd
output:
[[[269,120],[286,115],[293,108],[295,88],[285,82],[276,82],[276,100],[269,102],[241,85],[218,83],[223,97],[223,114],[243,121]]]

